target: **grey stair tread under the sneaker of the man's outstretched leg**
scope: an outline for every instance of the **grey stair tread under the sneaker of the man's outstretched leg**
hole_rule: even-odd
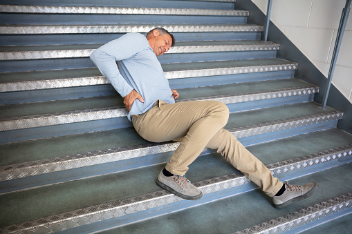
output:
[[[266,197],[261,191],[250,191],[185,211],[162,215],[151,220],[149,219],[147,221],[111,229],[110,231],[103,231],[102,233],[138,233],[138,231],[142,231],[143,233],[163,233],[174,230],[182,230],[183,233],[234,233],[261,224],[262,222],[282,217],[282,219],[279,219],[280,222],[276,220],[276,222],[270,223],[268,227],[273,228],[276,224],[282,224],[287,218],[285,215],[288,215],[288,213],[293,213],[306,207],[314,206],[315,204],[319,205],[319,202],[325,202],[328,199],[351,193],[350,188],[344,186],[346,183],[352,183],[351,169],[352,164],[346,164],[313,175],[306,175],[290,180],[290,184],[306,184],[315,181],[319,184],[319,188],[317,192],[308,199],[295,202],[285,208],[276,209],[272,206],[270,198]],[[338,180],[335,179],[337,177],[339,178]],[[334,189],[331,189],[331,186],[333,186]],[[319,215],[322,214],[324,215],[324,213],[319,213]],[[200,222],[201,225],[195,225]],[[346,220],[346,222],[348,221]],[[215,223],[216,225],[214,225]],[[342,224],[344,228],[347,227],[346,225],[348,224]],[[292,223],[290,226],[295,227]],[[261,226],[260,230],[265,230],[265,226]],[[327,230],[324,229],[322,232],[326,233]],[[344,229],[344,231],[346,231],[346,229]],[[304,233],[306,233],[306,231]],[[315,232],[315,228],[312,228],[308,233],[317,232]],[[348,233],[348,231],[346,233]]]

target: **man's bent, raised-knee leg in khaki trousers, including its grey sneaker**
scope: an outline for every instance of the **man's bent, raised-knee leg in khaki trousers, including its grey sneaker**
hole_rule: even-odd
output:
[[[182,138],[156,183],[184,199],[201,198],[201,191],[184,175],[207,142],[225,126],[228,116],[228,107],[219,101],[177,104],[158,101],[147,113],[133,116],[133,126],[137,132],[151,142]]]

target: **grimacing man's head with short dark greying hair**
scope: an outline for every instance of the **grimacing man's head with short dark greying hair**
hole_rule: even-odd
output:
[[[147,33],[147,40],[156,56],[163,55],[175,45],[174,35],[164,28],[154,28]]]

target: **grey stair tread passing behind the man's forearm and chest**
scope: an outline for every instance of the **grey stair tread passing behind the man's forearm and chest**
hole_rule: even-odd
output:
[[[204,70],[216,68],[237,68],[243,66],[270,66],[297,64],[284,59],[243,59],[232,61],[200,61],[192,63],[161,64],[164,72],[183,70]],[[98,68],[78,68],[63,70],[37,70],[30,72],[0,72],[0,84],[13,81],[35,81],[46,79],[65,79],[75,77],[102,77]]]

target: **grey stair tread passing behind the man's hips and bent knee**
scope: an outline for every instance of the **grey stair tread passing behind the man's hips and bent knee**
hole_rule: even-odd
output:
[[[333,108],[329,107],[323,110],[315,102],[308,102],[304,104],[291,104],[241,113],[231,113],[225,128],[231,129],[255,126],[257,124],[278,121],[280,119],[331,113],[333,110]],[[109,148],[126,146],[136,146],[138,148],[140,147],[138,145],[147,143],[149,142],[142,139],[133,128],[120,128],[95,133],[83,133],[64,137],[0,144],[0,151],[3,152],[3,155],[6,155],[6,157],[1,159],[0,166],[53,157],[64,157]],[[41,154],[37,153],[38,150],[41,151]]]

